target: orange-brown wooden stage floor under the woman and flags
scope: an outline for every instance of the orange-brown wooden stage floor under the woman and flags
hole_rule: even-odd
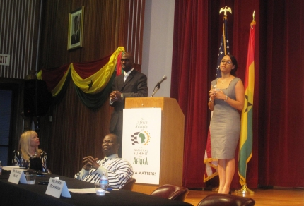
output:
[[[233,190],[234,191],[234,190]],[[273,189],[252,189],[255,193],[245,194],[243,196],[255,200],[255,205],[304,205],[304,188],[279,188]],[[210,195],[212,191],[206,190],[190,190],[185,202],[197,205],[201,199]],[[232,195],[240,195],[241,193],[232,193]]]

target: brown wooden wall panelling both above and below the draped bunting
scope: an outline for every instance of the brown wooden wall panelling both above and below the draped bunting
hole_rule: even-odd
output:
[[[143,21],[144,10],[139,8],[144,6],[143,0],[44,2],[40,68],[95,61],[112,54],[119,46],[128,52],[141,51],[141,42],[136,41],[143,30],[135,24]],[[67,50],[69,13],[81,6],[84,6],[83,47]],[[136,17],[139,11],[141,16]],[[130,19],[136,21],[129,23]],[[136,58],[139,63],[139,57]],[[49,168],[54,174],[73,177],[81,170],[83,157],[103,157],[101,143],[109,133],[111,113],[108,99],[99,109],[88,109],[76,95],[74,83],[69,83],[64,99],[40,117],[41,148],[47,152]]]

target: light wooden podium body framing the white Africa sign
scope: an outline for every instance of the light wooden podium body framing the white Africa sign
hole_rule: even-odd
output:
[[[126,98],[125,109],[161,108],[160,183],[135,183],[133,191],[150,194],[164,184],[182,186],[185,116],[176,99],[168,97]]]

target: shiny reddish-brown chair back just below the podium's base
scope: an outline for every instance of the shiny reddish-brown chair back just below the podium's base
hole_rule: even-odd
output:
[[[166,198],[169,200],[184,201],[188,193],[188,188],[166,184],[156,188],[156,190],[154,190],[151,195]]]

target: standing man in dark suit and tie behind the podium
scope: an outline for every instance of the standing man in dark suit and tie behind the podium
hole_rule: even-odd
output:
[[[115,133],[122,140],[122,114],[124,100],[127,97],[148,97],[147,77],[134,69],[134,56],[129,52],[122,53],[124,73],[115,77],[110,94],[110,105],[114,107],[110,121],[110,133]],[[122,143],[120,143],[122,145]],[[118,155],[122,157],[122,146]]]

